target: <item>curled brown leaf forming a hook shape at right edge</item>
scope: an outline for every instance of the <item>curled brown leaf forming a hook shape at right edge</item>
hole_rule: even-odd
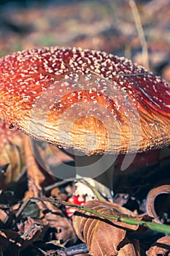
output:
[[[161,223],[159,220],[158,215],[155,212],[155,198],[161,194],[170,194],[170,185],[163,185],[160,187],[155,187],[154,189],[150,190],[150,193],[147,195],[147,203],[146,209],[147,214],[154,218],[155,222]]]

